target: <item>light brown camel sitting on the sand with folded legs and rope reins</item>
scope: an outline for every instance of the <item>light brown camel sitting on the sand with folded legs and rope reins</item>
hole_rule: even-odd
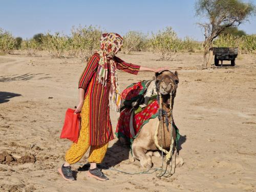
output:
[[[152,156],[154,155],[160,157],[159,148],[156,146],[156,143],[154,141],[156,129],[158,129],[158,144],[162,146],[163,149],[169,150],[172,142],[172,139],[170,138],[170,131],[172,131],[170,128],[172,127],[174,141],[173,149],[174,154],[177,155],[177,146],[175,142],[176,130],[171,123],[171,121],[173,121],[171,113],[174,105],[174,98],[176,96],[176,89],[178,87],[178,83],[179,78],[177,71],[175,71],[175,73],[172,73],[170,71],[162,71],[160,73],[156,73],[156,89],[158,94],[161,94],[162,103],[160,103],[160,105],[162,105],[162,109],[167,112],[169,125],[168,127],[166,126],[165,117],[161,117],[163,120],[162,123],[159,123],[158,118],[150,119],[150,121],[142,127],[139,135],[133,140],[133,158],[139,160],[142,167],[151,168]],[[182,158],[177,155],[176,166],[181,166],[182,164]]]

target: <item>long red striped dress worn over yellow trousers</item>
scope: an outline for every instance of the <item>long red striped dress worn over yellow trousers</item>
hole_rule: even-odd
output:
[[[104,87],[97,79],[99,59],[98,53],[93,54],[79,79],[79,88],[85,90],[84,98],[89,97],[90,102],[89,142],[90,145],[97,146],[114,139],[109,108],[109,93],[111,88],[110,65],[108,65],[108,79]],[[117,62],[117,69],[135,75],[138,74],[140,66],[126,63],[118,57],[114,57],[113,59]]]

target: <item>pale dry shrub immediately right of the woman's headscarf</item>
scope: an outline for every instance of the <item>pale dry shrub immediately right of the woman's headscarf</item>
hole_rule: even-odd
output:
[[[146,37],[143,33],[129,31],[123,36],[122,52],[130,54],[132,51],[142,51],[145,45]]]

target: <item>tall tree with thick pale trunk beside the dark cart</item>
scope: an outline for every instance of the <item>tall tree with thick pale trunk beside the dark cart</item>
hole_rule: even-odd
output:
[[[204,61],[202,69],[210,68],[212,59],[212,41],[226,28],[236,27],[255,13],[252,3],[242,0],[198,0],[196,14],[207,18],[199,25],[204,30]]]

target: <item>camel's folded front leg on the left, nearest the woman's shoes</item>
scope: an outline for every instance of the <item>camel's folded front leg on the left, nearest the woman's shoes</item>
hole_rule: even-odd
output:
[[[133,156],[134,158],[140,160],[142,167],[151,168],[152,159],[150,156],[146,155],[146,150],[139,146],[133,146]]]

